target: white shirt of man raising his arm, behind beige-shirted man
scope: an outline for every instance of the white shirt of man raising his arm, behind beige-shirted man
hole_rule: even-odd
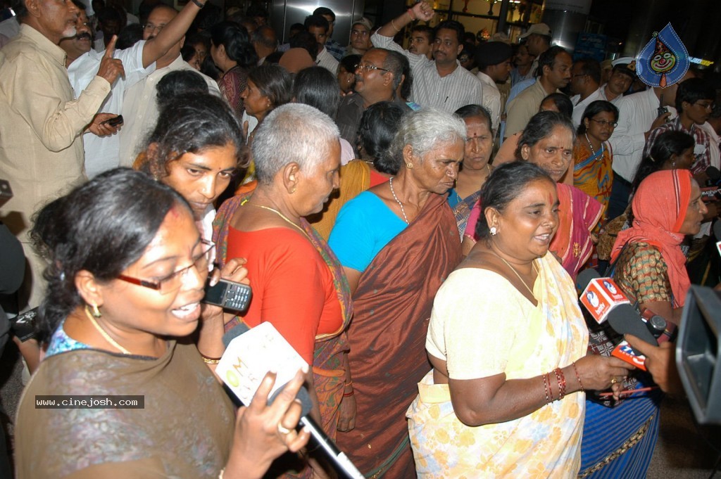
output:
[[[125,89],[130,88],[141,79],[155,71],[155,63],[143,68],[143,46],[146,41],[141,40],[131,48],[115,50],[113,58],[123,61],[125,78],[118,76],[112,84],[110,95],[98,110],[102,113],[120,115],[123,109],[123,96]],[[79,56],[68,66],[68,78],[77,98],[90,81],[95,78],[105,51],[90,50]],[[120,164],[120,135],[99,137],[93,133],[84,133],[83,146],[85,150],[85,173],[89,178],[103,171],[115,168]]]

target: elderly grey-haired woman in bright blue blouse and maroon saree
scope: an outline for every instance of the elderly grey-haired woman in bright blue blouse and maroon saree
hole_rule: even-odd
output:
[[[461,259],[446,194],[465,138],[464,122],[446,112],[404,117],[390,148],[398,173],[347,202],[330,234],[355,310],[348,339],[358,412],[337,444],[366,477],[415,477],[405,412],[430,370],[433,296]]]

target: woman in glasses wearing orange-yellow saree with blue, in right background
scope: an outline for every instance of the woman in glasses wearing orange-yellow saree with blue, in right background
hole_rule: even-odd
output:
[[[573,146],[573,186],[596,198],[604,211],[609,209],[614,181],[609,138],[618,119],[619,109],[611,102],[591,102],[583,112]]]

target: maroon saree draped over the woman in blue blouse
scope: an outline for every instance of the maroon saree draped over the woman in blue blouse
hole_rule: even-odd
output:
[[[420,215],[361,275],[348,329],[358,404],[355,429],[337,444],[366,477],[415,478],[405,413],[430,371],[425,335],[435,292],[461,261],[446,198],[432,194]]]

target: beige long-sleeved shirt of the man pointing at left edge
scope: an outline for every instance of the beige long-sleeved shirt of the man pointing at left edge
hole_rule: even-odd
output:
[[[110,92],[96,76],[74,99],[65,58],[26,24],[0,52],[0,178],[14,192],[0,217],[16,235],[37,207],[84,179],[81,134]]]

